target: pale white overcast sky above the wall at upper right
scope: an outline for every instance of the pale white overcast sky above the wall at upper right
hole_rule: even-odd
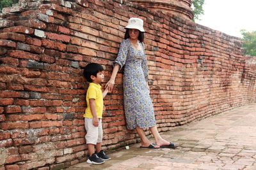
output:
[[[241,29],[256,31],[256,0],[205,0],[203,10],[197,24],[239,38]]]

